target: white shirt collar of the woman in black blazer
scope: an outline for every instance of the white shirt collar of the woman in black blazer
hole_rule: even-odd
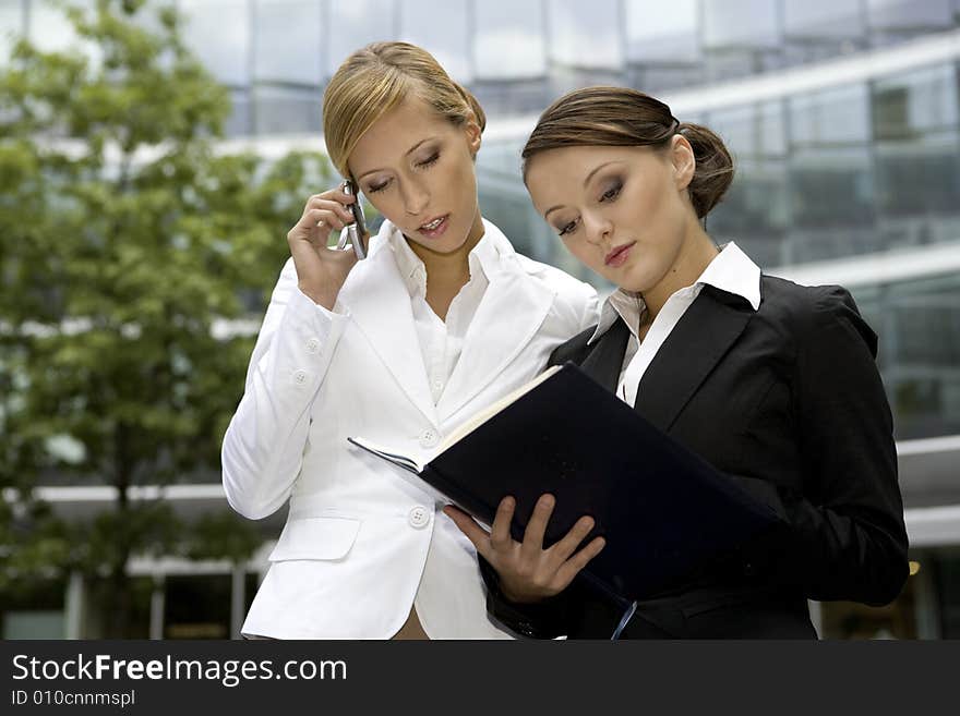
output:
[[[715,289],[743,296],[754,311],[760,307],[760,268],[732,241],[721,247],[720,253],[704,269],[693,287],[686,287],[681,291],[704,286],[712,286]],[[603,302],[600,323],[597,324],[597,330],[587,344],[596,342],[605,333],[616,321],[617,316],[621,316],[627,326],[636,326],[646,310],[647,306],[639,294],[617,289]]]

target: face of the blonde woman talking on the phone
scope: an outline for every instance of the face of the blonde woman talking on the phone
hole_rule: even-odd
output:
[[[415,248],[451,254],[483,233],[473,173],[479,148],[476,123],[457,126],[411,97],[373,123],[348,166],[360,191]]]

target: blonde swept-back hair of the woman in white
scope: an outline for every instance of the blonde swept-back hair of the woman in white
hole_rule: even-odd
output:
[[[487,125],[477,98],[454,82],[430,52],[409,43],[373,43],[348,57],[323,96],[327,154],[344,177],[347,159],[376,120],[406,97],[417,96],[461,125]]]

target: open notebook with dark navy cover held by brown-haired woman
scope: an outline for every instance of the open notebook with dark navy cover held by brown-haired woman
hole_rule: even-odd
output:
[[[732,480],[644,420],[572,363],[467,421],[421,464],[359,437],[355,446],[401,468],[408,480],[490,524],[501,499],[524,529],[543,493],[556,498],[544,544],[583,514],[607,546],[588,579],[615,596],[644,598],[706,560],[780,522]]]

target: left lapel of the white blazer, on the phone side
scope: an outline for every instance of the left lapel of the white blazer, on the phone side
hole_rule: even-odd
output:
[[[410,294],[387,241],[391,231],[393,224],[384,221],[371,241],[370,254],[353,267],[337,303],[349,313],[410,401],[439,427]]]

